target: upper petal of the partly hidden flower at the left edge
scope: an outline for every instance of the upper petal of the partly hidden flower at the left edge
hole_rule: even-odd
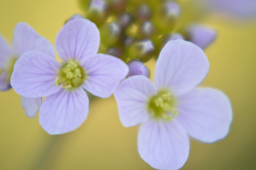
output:
[[[19,22],[14,29],[13,48],[17,56],[29,50],[44,52],[55,58],[52,44],[24,22]]]

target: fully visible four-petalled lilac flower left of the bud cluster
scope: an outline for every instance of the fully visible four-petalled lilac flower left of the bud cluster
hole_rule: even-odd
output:
[[[56,36],[55,47],[63,63],[38,51],[26,52],[17,60],[11,85],[25,97],[46,96],[39,123],[49,134],[67,133],[85,121],[89,100],[83,88],[95,96],[110,97],[127,75],[122,60],[97,54],[99,42],[94,23],[75,19]]]

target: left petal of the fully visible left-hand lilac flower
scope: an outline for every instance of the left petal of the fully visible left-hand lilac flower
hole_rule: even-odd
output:
[[[15,63],[11,85],[21,96],[36,98],[57,92],[55,86],[61,63],[51,56],[39,52],[25,52]]]

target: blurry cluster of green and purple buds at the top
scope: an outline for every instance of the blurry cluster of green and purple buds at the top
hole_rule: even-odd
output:
[[[84,17],[100,30],[99,52],[126,63],[156,59],[170,40],[185,39],[205,48],[216,38],[216,31],[208,27],[178,28],[183,8],[175,0],[80,0],[80,4]],[[70,19],[77,17],[82,16]]]

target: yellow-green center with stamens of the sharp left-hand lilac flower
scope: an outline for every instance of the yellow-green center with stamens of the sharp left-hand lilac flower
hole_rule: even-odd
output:
[[[55,79],[55,86],[62,84],[62,88],[73,89],[81,86],[86,77],[84,69],[76,61],[64,63]]]

